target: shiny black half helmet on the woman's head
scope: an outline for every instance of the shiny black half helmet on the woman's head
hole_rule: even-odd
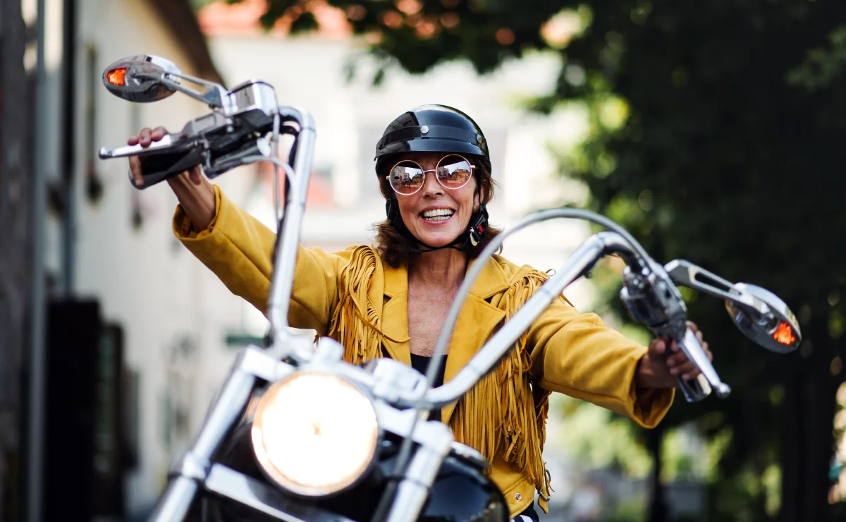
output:
[[[455,152],[475,157],[491,172],[491,156],[479,125],[446,105],[421,105],[394,119],[376,143],[376,173],[404,152]]]

